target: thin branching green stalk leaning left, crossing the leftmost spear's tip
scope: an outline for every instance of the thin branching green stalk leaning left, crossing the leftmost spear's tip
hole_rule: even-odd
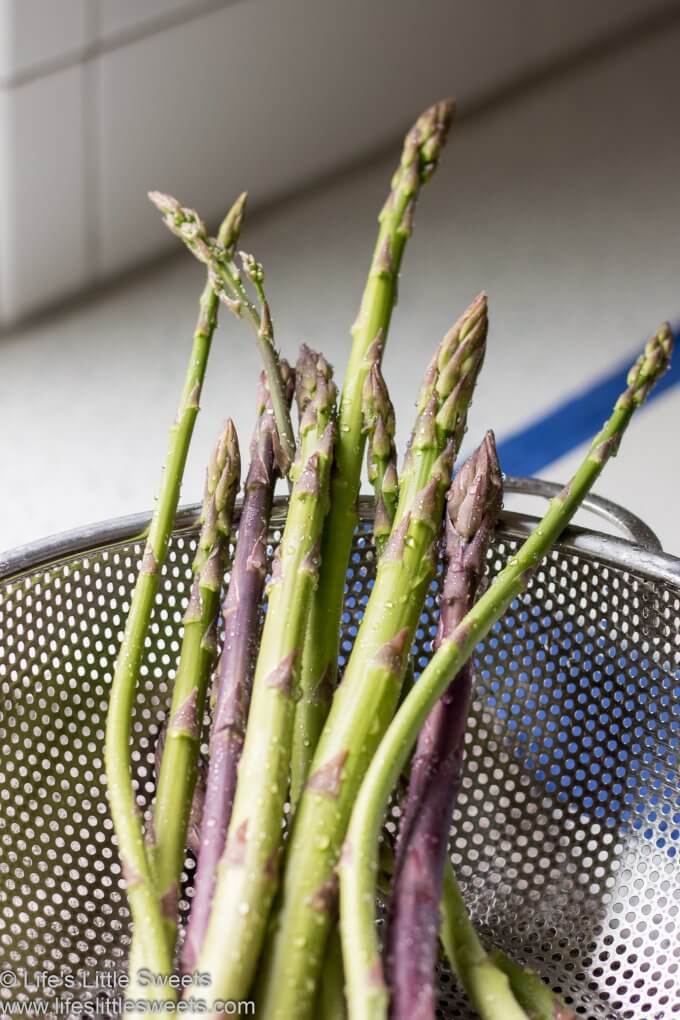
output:
[[[289,401],[285,395],[285,379],[281,374],[278,352],[274,344],[269,304],[264,293],[264,270],[252,255],[242,253],[242,264],[247,278],[253,285],[260,308],[249,297],[241,271],[234,261],[238,236],[224,243],[219,237],[211,238],[206,224],[195,209],[180,205],[171,195],[149,192],[149,198],[163,216],[163,222],[175,237],[187,245],[192,254],[205,265],[215,294],[228,310],[239,318],[246,319],[255,334],[267,385],[271,394],[271,404],[276,418],[280,439],[280,463],[282,474],[287,475],[295,456],[295,438],[291,424]],[[238,199],[237,206],[243,218],[246,194]]]

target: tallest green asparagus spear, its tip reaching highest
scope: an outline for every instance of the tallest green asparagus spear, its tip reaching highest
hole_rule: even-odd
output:
[[[379,361],[397,301],[402,256],[413,230],[418,195],[436,167],[453,115],[452,101],[435,103],[418,117],[406,136],[402,159],[379,215],[378,236],[368,279],[359,315],[352,327],[352,353],[338,412],[330,510],[323,530],[321,574],[312,600],[301,670],[302,697],[296,708],[296,729],[305,735],[299,749],[300,774],[295,776],[294,794],[299,793],[301,782],[309,772],[319,733],[328,714],[329,695],[335,685],[343,593],[357,524],[356,504],[365,442],[362,431],[363,389],[372,363],[370,350],[377,343]]]

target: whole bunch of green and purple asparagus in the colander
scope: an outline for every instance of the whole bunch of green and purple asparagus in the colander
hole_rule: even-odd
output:
[[[401,478],[381,370],[415,203],[436,167],[453,109],[450,102],[435,104],[407,135],[379,216],[338,403],[323,355],[303,345],[295,372],[278,356],[262,265],[245,253],[241,267],[237,263],[245,196],[212,238],[194,210],[151,194],[169,228],[207,266],[208,282],[107,722],[109,800],[133,915],[129,993],[137,1000],[179,1009],[174,1000],[186,986],[181,1011],[203,1015],[254,996],[266,1020],[335,1020],[348,1012],[352,1020],[431,1020],[440,941],[482,1020],[571,1016],[537,975],[482,946],[448,857],[471,656],[617,452],[632,414],[668,365],[672,338],[664,325],[649,341],[572,481],[475,602],[502,503],[492,434],[455,474],[454,463],[486,348],[485,295],[456,321],[426,369]],[[181,653],[158,749],[156,801],[145,831],[132,778],[130,712],[220,303],[249,322],[262,355],[256,425],[236,540],[240,460],[230,423],[208,466]],[[375,581],[337,685],[365,448],[375,491]],[[290,498],[265,594],[277,476],[287,477]],[[411,645],[440,558],[438,631],[431,661],[413,682]],[[400,776],[407,793],[381,950],[378,836]],[[177,903],[188,847],[198,864],[180,941]],[[177,954],[181,980],[173,976]],[[158,976],[144,988],[136,980],[142,968]],[[147,1005],[140,1004],[140,1015]]]

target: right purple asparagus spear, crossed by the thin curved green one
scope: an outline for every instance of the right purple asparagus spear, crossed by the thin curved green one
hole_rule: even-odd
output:
[[[447,499],[435,645],[471,608],[503,499],[493,434],[456,475]],[[391,1020],[433,1020],[439,903],[451,817],[460,788],[472,669],[463,667],[423,726],[411,767],[385,940]]]

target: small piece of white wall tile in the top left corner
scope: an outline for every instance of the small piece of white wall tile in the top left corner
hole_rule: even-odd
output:
[[[81,53],[90,41],[87,5],[88,0],[0,0],[0,82]]]

